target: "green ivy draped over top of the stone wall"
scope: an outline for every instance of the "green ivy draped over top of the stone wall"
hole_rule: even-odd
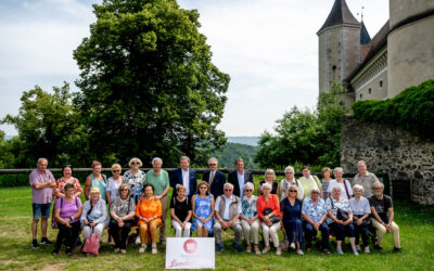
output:
[[[409,87],[393,99],[358,101],[352,108],[361,121],[398,126],[434,140],[434,80]]]

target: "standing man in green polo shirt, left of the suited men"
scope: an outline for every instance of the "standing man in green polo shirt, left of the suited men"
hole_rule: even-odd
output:
[[[150,183],[154,186],[154,197],[159,199],[162,203],[162,222],[163,225],[159,228],[159,243],[164,245],[166,243],[166,215],[168,208],[167,193],[169,192],[169,175],[166,170],[162,169],[163,160],[159,157],[152,159],[152,169],[146,172],[145,183]]]

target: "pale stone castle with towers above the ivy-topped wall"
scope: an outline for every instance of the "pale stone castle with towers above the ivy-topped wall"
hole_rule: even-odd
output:
[[[434,78],[434,1],[390,0],[390,20],[371,37],[345,0],[335,0],[319,38],[319,92],[337,81],[345,103],[387,99]]]

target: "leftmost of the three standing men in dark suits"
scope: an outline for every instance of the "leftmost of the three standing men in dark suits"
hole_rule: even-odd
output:
[[[170,186],[174,188],[173,196],[177,196],[176,188],[180,184],[186,186],[186,195],[191,198],[196,191],[196,171],[190,168],[190,158],[188,156],[181,156],[179,164],[181,167],[171,171],[170,175]]]

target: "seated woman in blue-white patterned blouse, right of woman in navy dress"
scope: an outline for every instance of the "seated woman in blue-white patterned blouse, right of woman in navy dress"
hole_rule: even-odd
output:
[[[302,216],[304,218],[304,229],[306,237],[306,251],[311,251],[312,236],[317,236],[317,231],[321,231],[321,249],[326,255],[330,255],[329,248],[329,227],[326,222],[327,207],[326,202],[320,197],[320,189],[315,188],[310,191],[310,197],[303,202]]]

